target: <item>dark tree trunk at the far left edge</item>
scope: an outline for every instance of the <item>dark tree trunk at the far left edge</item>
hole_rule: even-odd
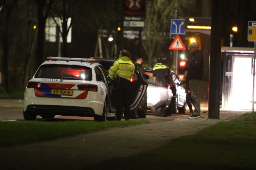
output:
[[[1,0],[1,24],[0,24],[0,49],[3,50],[3,54],[1,53],[1,71],[3,76],[3,91],[9,92],[9,83],[8,83],[8,51],[9,51],[9,43],[8,43],[8,19],[10,17],[11,10],[15,5],[17,0]]]

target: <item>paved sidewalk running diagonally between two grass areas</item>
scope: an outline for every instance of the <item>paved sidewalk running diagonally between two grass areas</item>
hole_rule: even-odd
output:
[[[83,169],[115,157],[146,152],[246,112],[220,112],[220,119],[180,117],[173,121],[111,128],[74,137],[0,148],[1,169]],[[141,119],[140,119],[141,120]]]

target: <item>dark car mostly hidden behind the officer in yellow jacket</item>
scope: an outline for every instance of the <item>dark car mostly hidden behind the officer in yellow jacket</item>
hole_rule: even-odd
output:
[[[116,59],[103,59],[103,58],[96,58],[96,62],[100,63],[107,71],[110,69],[110,67],[114,64],[114,62],[116,61]],[[134,61],[133,61],[134,62]],[[132,107],[131,108],[131,112],[130,112],[130,118],[131,119],[136,119],[137,116],[138,118],[145,118],[147,115],[147,87],[148,87],[148,83],[146,81],[144,81],[144,79],[148,79],[149,77],[147,75],[144,75],[143,78],[140,76],[139,74],[139,70],[138,67],[136,66],[135,62],[135,72],[134,72],[134,76],[132,77],[132,83],[133,83],[133,87],[136,88],[133,91],[141,91],[144,93],[141,93],[139,96],[137,95],[133,95],[133,100],[134,99],[140,99],[139,101],[139,106],[138,107]],[[139,88],[139,89],[138,89]],[[115,91],[115,87],[114,86],[110,86],[111,89],[111,102],[115,102],[116,101],[116,91]],[[138,101],[138,100],[135,100]],[[132,105],[135,105],[135,103],[133,103]],[[132,106],[131,105],[131,106]],[[112,103],[112,106],[114,108],[110,108],[110,111],[114,112],[116,111],[116,105]]]

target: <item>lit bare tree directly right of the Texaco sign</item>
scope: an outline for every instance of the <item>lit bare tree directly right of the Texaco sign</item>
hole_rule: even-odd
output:
[[[165,42],[165,32],[174,15],[176,1],[155,0],[146,1],[146,18],[142,42],[148,55],[149,66],[152,66],[152,58],[160,53],[161,46]]]

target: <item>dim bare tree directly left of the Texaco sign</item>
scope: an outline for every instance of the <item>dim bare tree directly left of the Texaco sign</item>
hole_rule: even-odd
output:
[[[120,42],[122,37],[120,32],[116,32],[117,27],[121,26],[121,0],[94,0],[87,1],[84,9],[85,16],[83,23],[94,30],[100,38],[107,58],[115,57],[115,49],[121,48]],[[89,17],[88,17],[89,16]],[[112,36],[113,41],[109,42],[108,38]]]

